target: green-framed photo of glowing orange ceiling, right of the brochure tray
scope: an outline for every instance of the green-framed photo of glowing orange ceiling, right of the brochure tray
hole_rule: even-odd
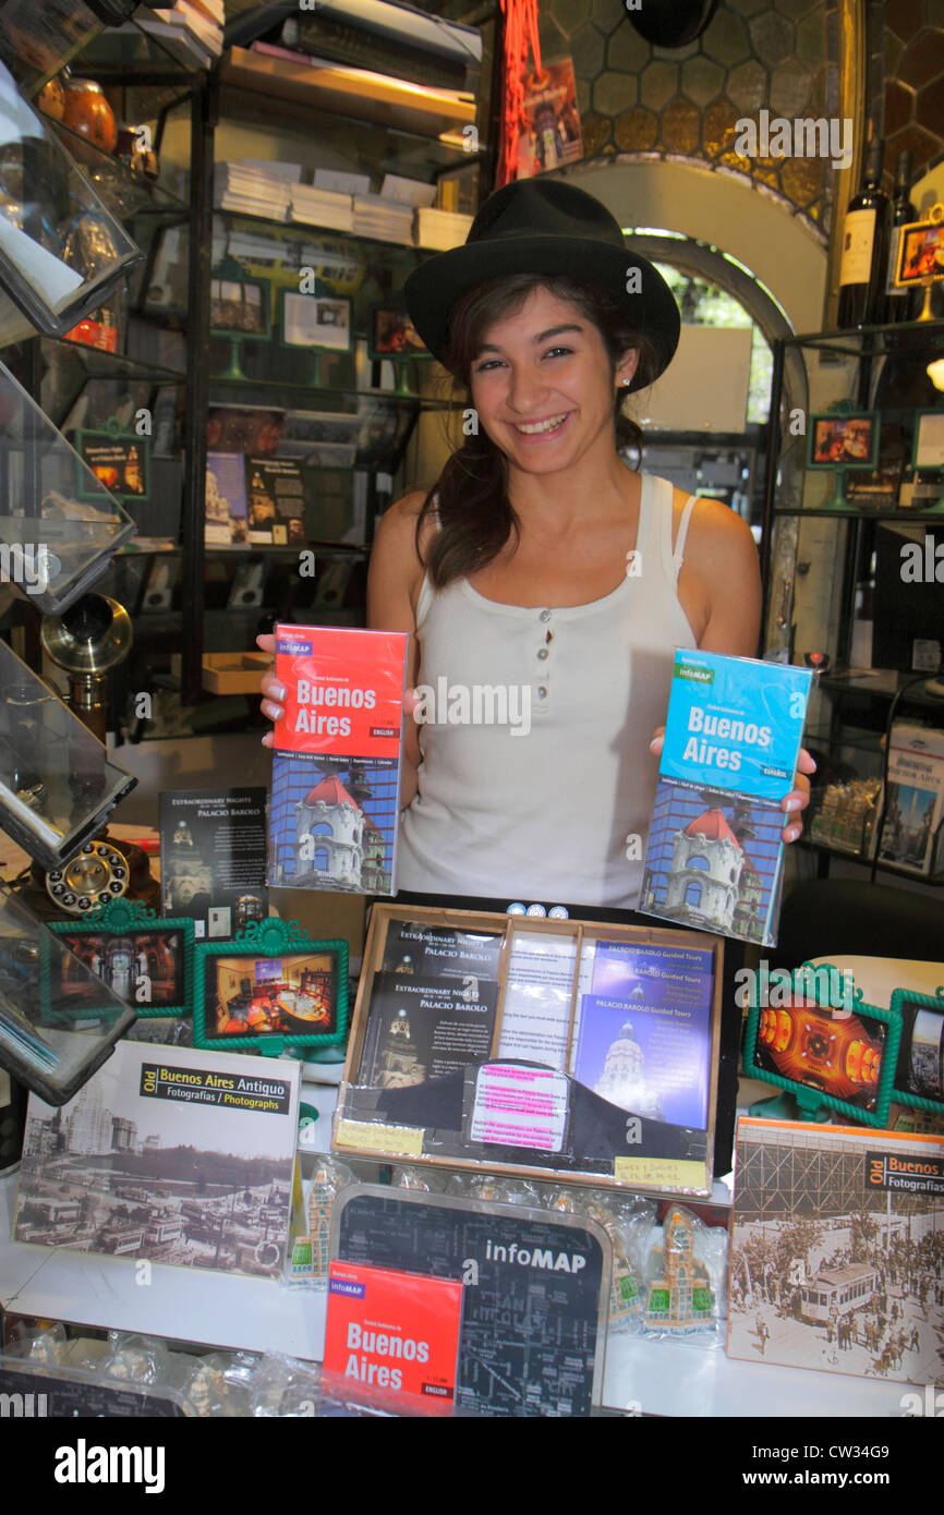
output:
[[[855,986],[844,1004],[833,1006],[824,982],[842,982],[839,970],[805,964],[792,974],[791,989],[771,991],[764,1004],[755,976],[744,1074],[791,1094],[803,1120],[817,1120],[826,1107],[865,1126],[886,1126],[902,1018],[865,1004]]]

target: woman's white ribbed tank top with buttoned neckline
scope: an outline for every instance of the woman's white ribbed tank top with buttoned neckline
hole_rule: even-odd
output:
[[[400,826],[403,889],[636,907],[659,770],[649,744],[674,648],[697,645],[677,595],[694,495],[673,553],[673,486],[641,480],[639,571],[602,600],[526,609],[467,579],[423,583],[418,685],[432,698]]]

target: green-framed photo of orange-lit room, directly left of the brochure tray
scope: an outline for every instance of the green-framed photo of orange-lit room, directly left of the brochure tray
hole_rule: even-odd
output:
[[[194,1045],[277,1056],[345,1036],[345,941],[311,941],[294,921],[268,918],[235,941],[197,944]]]

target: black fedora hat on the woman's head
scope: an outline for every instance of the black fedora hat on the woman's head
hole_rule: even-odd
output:
[[[658,377],[674,356],[680,318],[671,289],[585,189],[561,179],[517,179],[488,197],[462,247],[412,271],[406,308],[430,353],[442,356],[459,295],[502,274],[567,274],[609,294],[656,351],[655,373],[636,371],[629,389]]]

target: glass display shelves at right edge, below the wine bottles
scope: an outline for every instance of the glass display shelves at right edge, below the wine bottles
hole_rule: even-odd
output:
[[[818,762],[809,841],[821,873],[830,853],[870,862],[877,850],[883,871],[944,882],[939,759],[921,754],[924,797],[906,797],[930,826],[921,867],[891,833],[880,839],[902,800],[892,733],[906,723],[935,745],[944,727],[942,351],[941,321],[796,336],[774,348],[765,656],[818,670],[805,745]]]

